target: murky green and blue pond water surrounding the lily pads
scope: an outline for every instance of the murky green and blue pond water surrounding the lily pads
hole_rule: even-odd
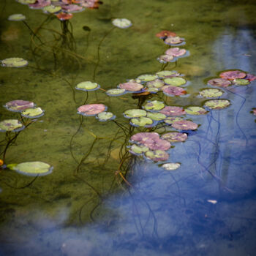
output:
[[[256,80],[208,85],[227,70],[256,75],[254,0],[105,0],[69,21],[14,0],[0,7],[1,60],[29,61],[0,67],[0,121],[26,125],[0,133],[0,255],[255,255]],[[8,20],[15,13],[26,20]],[[115,18],[132,26],[113,26]],[[163,30],[185,39],[178,46],[184,58],[157,61],[174,48],[156,37]],[[183,74],[187,94],[105,93],[164,69]],[[82,81],[101,88],[76,90]],[[182,131],[187,140],[171,143],[165,161],[129,153],[132,135],[181,130],[165,122],[133,127],[124,111],[148,100],[203,107],[209,99],[198,96],[202,89],[221,89],[214,99],[230,105],[183,115],[199,126]],[[24,118],[2,107],[15,99],[34,102],[44,115]],[[96,103],[116,119],[78,114]],[[52,173],[12,170],[34,161]],[[181,165],[165,170],[167,162]]]

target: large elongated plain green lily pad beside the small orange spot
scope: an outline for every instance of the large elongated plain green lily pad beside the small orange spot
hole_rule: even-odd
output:
[[[7,167],[10,167],[7,165]],[[18,165],[12,165],[12,170],[28,176],[45,176],[52,172],[53,167],[45,162],[23,162]]]

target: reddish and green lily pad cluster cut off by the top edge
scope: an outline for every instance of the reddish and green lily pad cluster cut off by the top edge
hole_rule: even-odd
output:
[[[69,20],[73,12],[82,12],[86,8],[97,9],[99,0],[17,0],[20,4],[28,4],[31,9],[41,9],[45,13],[56,15],[59,20]]]

